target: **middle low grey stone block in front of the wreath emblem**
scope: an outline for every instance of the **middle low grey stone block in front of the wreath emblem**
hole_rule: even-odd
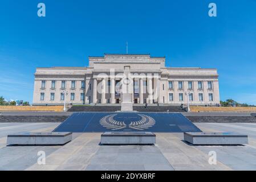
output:
[[[156,135],[151,132],[105,132],[101,144],[155,144]]]

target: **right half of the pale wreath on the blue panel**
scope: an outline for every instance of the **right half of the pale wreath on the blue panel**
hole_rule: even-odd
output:
[[[129,124],[129,128],[136,129],[136,130],[145,130],[155,125],[156,121],[154,118],[144,114],[138,114],[138,115],[140,115],[141,117],[140,121],[131,122]]]

